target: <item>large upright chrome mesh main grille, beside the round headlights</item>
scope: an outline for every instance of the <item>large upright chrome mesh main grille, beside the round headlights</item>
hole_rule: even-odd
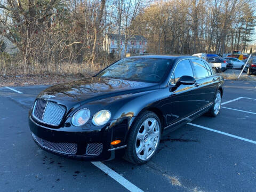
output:
[[[59,125],[65,112],[66,109],[64,106],[51,101],[38,99],[34,105],[33,116],[40,122]]]

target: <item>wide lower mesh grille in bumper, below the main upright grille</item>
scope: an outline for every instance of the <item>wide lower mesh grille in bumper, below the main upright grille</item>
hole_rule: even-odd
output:
[[[45,149],[49,149],[54,152],[75,155],[77,152],[76,143],[67,143],[67,142],[51,142],[41,138],[38,138],[35,134],[32,133],[33,138],[39,143],[39,145]]]

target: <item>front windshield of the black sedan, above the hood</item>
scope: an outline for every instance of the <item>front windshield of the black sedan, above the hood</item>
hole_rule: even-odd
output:
[[[170,66],[169,59],[125,58],[101,71],[97,76],[158,83]]]

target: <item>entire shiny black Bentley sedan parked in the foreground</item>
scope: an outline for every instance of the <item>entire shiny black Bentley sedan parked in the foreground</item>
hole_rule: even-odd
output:
[[[203,59],[130,57],[41,92],[29,126],[37,145],[51,153],[106,161],[123,150],[127,161],[142,164],[162,134],[204,113],[217,116],[222,94],[223,78]]]

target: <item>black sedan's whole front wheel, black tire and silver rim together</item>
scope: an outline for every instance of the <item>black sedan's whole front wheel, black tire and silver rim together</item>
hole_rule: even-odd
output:
[[[149,125],[148,129],[145,129],[145,125]],[[143,112],[135,119],[127,138],[124,155],[126,161],[133,164],[144,164],[150,161],[158,149],[161,133],[162,127],[158,116],[151,111]]]

